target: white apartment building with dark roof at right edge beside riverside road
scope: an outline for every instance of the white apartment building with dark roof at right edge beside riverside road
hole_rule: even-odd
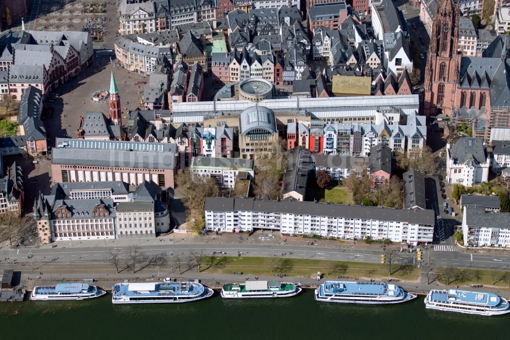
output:
[[[510,213],[490,212],[483,207],[464,207],[464,245],[467,247],[510,247]]]

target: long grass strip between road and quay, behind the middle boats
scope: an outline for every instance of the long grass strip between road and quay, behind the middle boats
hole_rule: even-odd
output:
[[[220,259],[221,257],[215,257],[215,260]],[[205,261],[205,263],[201,265],[202,272],[222,274],[242,272],[243,275],[287,274],[289,276],[310,278],[316,278],[317,272],[321,272],[321,274],[325,274],[329,278],[336,278],[341,275],[350,278],[366,277],[373,279],[392,277],[410,281],[417,280],[419,277],[419,270],[415,267],[409,272],[404,273],[397,271],[390,276],[388,275],[388,265],[379,263],[285,259],[276,257],[226,257],[224,264],[213,265],[208,268],[209,265],[207,262],[208,261]],[[333,264],[339,265],[340,268],[333,271]]]

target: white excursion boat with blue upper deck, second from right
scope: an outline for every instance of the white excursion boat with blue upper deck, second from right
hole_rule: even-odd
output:
[[[325,281],[315,289],[315,300],[325,302],[392,304],[416,298],[395,284],[363,281]]]

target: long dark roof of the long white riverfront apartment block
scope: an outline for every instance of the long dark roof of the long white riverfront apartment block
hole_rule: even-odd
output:
[[[253,212],[286,212],[302,215],[364,218],[378,221],[397,221],[413,224],[433,225],[433,210],[393,209],[366,207],[359,205],[327,204],[297,201],[267,201],[253,198],[222,198],[208,197],[206,211],[253,211]],[[510,218],[507,217],[510,221]]]

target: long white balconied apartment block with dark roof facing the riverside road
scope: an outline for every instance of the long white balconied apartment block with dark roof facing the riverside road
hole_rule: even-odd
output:
[[[219,197],[206,198],[205,213],[208,231],[263,229],[341,239],[370,236],[409,245],[432,241],[436,217],[432,210]]]

